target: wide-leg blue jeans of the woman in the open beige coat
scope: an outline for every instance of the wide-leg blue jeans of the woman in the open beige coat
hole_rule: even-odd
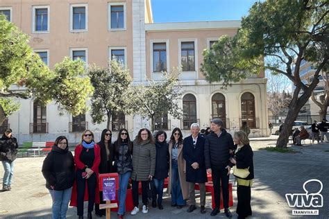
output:
[[[171,160],[171,204],[185,205],[182,188],[180,187],[178,162]]]

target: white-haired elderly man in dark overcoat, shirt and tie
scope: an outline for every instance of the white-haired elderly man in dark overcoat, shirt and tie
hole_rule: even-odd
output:
[[[205,213],[205,182],[207,182],[207,171],[205,170],[205,139],[199,134],[199,124],[191,125],[192,134],[183,142],[183,158],[186,161],[186,181],[189,183],[189,201],[191,205],[187,212],[196,209],[195,190],[196,183],[200,187],[201,213]]]

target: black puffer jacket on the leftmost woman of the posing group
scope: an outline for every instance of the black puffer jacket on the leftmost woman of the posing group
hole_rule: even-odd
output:
[[[74,158],[69,147],[62,150],[53,146],[44,159],[42,174],[46,179],[47,189],[51,189],[50,186],[55,186],[56,191],[71,188],[74,182]]]

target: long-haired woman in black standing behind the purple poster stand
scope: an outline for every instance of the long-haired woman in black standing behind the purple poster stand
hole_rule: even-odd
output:
[[[113,146],[111,143],[112,132],[105,129],[101,132],[101,141],[97,143],[101,147],[101,164],[99,164],[99,174],[101,173],[115,173],[113,170]],[[99,191],[99,197],[101,198],[101,204],[105,204],[103,201],[103,192]],[[106,209],[99,209],[99,204],[95,203],[96,216],[106,216]]]

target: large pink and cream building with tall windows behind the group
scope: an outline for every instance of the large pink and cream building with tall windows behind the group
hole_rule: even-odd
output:
[[[140,83],[158,80],[160,71],[181,66],[184,119],[162,115],[156,128],[189,130],[193,122],[206,128],[210,119],[219,117],[231,133],[247,121],[251,137],[269,134],[264,73],[221,89],[219,83],[206,82],[200,71],[203,49],[210,48],[221,35],[235,35],[239,21],[156,24],[150,0],[1,0],[0,12],[31,36],[32,48],[50,68],[65,56],[105,67],[115,55],[130,69],[134,82]],[[42,107],[33,98],[18,101],[21,109],[7,122],[20,143],[50,141],[59,134],[73,143],[81,139],[85,128],[99,137],[106,127],[106,123],[93,124],[88,113],[60,115],[54,103]],[[113,131],[126,127],[131,134],[149,126],[138,116],[117,114],[112,121]]]

